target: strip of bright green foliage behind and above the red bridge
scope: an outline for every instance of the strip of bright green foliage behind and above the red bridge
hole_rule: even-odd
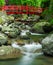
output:
[[[41,7],[41,4],[47,2],[48,0],[9,0],[8,4],[10,5],[28,5]],[[44,5],[42,5],[44,6]]]

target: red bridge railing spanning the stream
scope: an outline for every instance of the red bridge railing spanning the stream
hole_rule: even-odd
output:
[[[42,8],[16,5],[3,6],[2,10],[5,10],[7,14],[41,14],[43,12]]]

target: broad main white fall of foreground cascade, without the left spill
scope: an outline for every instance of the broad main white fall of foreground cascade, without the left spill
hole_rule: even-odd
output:
[[[33,42],[32,44],[25,44],[22,48],[25,52],[34,53],[36,50],[41,49],[42,46]]]

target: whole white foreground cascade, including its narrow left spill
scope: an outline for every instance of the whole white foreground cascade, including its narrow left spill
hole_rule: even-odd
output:
[[[16,42],[14,42],[12,44],[12,47],[20,49],[23,54],[29,54],[29,53],[32,54],[32,53],[35,53],[35,51],[42,49],[41,44],[39,44],[39,43],[36,44],[34,42],[32,44],[25,44],[24,46],[19,46],[19,45],[17,45]],[[36,52],[36,53],[38,53],[38,52]]]

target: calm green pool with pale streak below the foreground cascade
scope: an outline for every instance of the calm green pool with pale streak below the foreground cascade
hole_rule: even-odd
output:
[[[26,54],[20,59],[0,61],[0,65],[53,65],[53,58],[39,54]]]

